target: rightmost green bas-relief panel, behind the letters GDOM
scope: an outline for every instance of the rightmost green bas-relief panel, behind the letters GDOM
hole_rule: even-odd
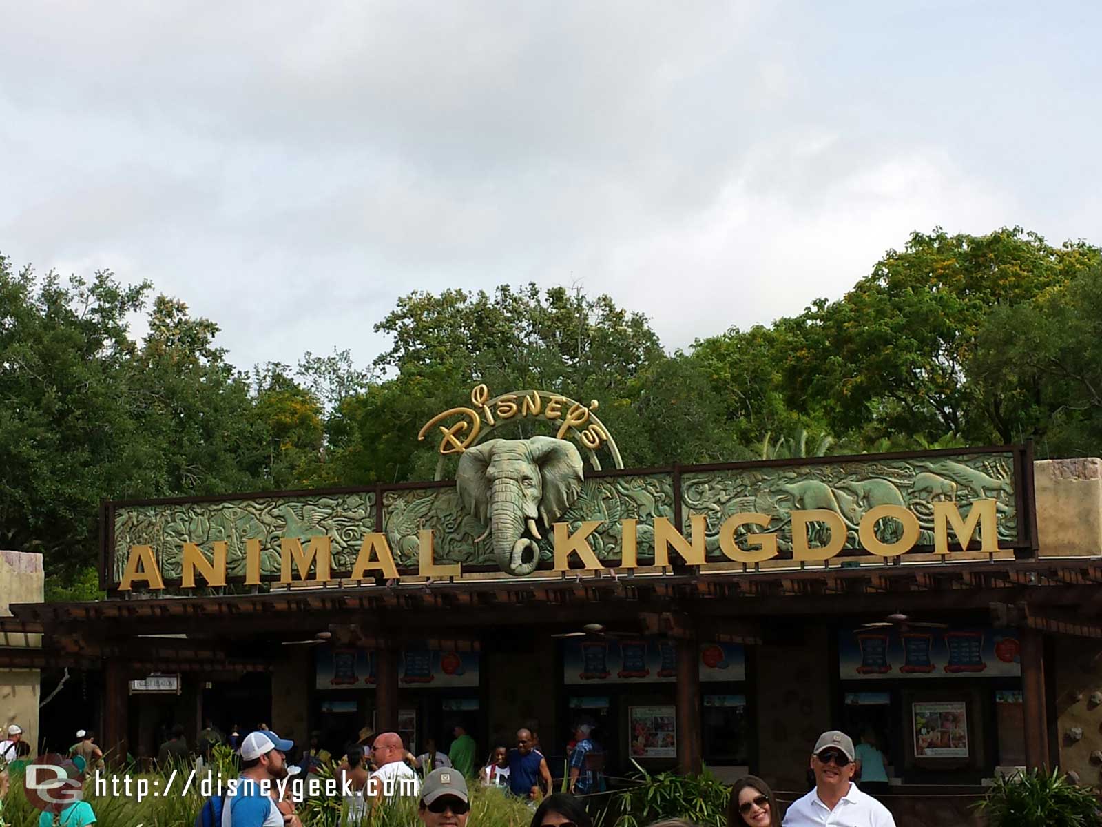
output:
[[[790,512],[825,508],[841,516],[846,526],[847,549],[861,547],[857,526],[862,515],[878,505],[900,505],[918,517],[918,546],[933,545],[933,503],[955,502],[966,515],[973,500],[994,500],[998,512],[1000,540],[1017,539],[1017,505],[1014,491],[1014,458],[1006,453],[955,454],[907,460],[871,460],[800,466],[750,468],[734,471],[685,473],[681,477],[682,519],[703,514],[707,526],[707,552],[720,551],[720,526],[734,514],[759,512],[773,517],[767,529],[738,529],[736,538],[749,533],[771,533],[778,537],[782,556],[790,556],[792,530]],[[900,525],[880,520],[876,536],[892,543]],[[812,544],[825,541],[827,529],[812,524]],[[979,529],[977,529],[979,531]],[[741,546],[745,546],[739,541]],[[640,555],[642,549],[640,547]]]

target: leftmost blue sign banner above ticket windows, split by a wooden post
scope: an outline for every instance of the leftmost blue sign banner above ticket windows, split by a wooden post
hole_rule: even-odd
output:
[[[317,689],[367,689],[375,687],[375,652],[352,647],[318,646]],[[398,684],[454,688],[478,686],[478,653],[410,647],[398,659]]]

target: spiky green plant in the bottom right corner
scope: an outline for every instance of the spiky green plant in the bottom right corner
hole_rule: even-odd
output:
[[[1102,808],[1088,787],[1073,784],[1057,767],[996,778],[975,805],[988,827],[1098,827]]]

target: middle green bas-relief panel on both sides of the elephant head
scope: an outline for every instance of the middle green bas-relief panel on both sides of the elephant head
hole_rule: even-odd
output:
[[[574,504],[560,522],[576,530],[584,520],[604,525],[590,535],[590,545],[599,559],[619,557],[620,520],[639,520],[640,557],[653,555],[655,517],[673,518],[673,477],[670,474],[603,476],[586,480]],[[493,536],[486,526],[463,508],[458,492],[446,488],[406,488],[382,494],[382,526],[399,568],[418,565],[418,530],[433,530],[433,559],[467,566],[496,566]],[[549,528],[539,541],[540,559],[552,560],[553,533]]]

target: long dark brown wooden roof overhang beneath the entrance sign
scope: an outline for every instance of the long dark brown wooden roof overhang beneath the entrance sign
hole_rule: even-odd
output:
[[[560,579],[400,582],[295,588],[267,594],[24,603],[11,606],[13,617],[0,619],[0,666],[14,666],[28,658],[54,658],[56,663],[67,658],[75,665],[110,657],[175,664],[160,670],[180,670],[181,664],[238,670],[270,668],[274,659],[287,656],[281,641],[325,629],[334,630],[336,643],[369,647],[430,638],[433,648],[476,648],[485,629],[538,625],[550,632],[555,626],[593,621],[628,624],[640,634],[688,636],[699,631],[721,640],[754,643],[760,638],[758,630],[767,617],[798,622],[809,615],[974,613],[994,611],[995,606],[1014,608],[1002,615],[1013,621],[1009,625],[1031,623],[1030,627],[1057,634],[1087,634],[1093,629],[1093,619],[1102,615],[1100,586],[1102,557],[719,573],[682,569],[655,577],[572,573]],[[996,620],[998,616],[996,612]],[[447,631],[442,633],[442,629]],[[44,636],[43,649],[10,645],[13,636],[37,634]],[[150,637],[171,634],[186,636]],[[1099,634],[1102,636],[1102,624]],[[39,654],[25,654],[30,652]]]

